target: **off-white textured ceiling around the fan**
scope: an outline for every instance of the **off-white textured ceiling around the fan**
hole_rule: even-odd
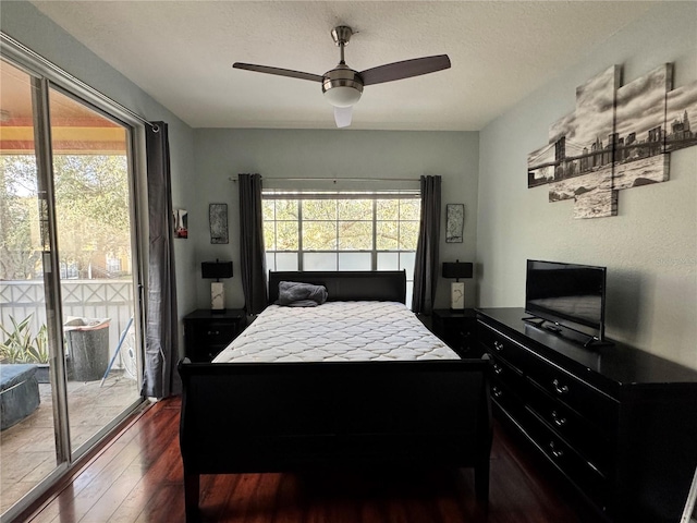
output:
[[[476,131],[660,2],[33,3],[193,127],[334,127],[320,84],[231,65],[323,74],[339,61],[331,28],[350,25],[356,71],[440,53],[452,62],[366,86],[352,129]]]

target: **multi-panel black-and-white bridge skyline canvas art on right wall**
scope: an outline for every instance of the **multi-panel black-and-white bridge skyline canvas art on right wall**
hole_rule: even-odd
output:
[[[697,145],[697,82],[672,89],[670,63],[624,86],[620,73],[577,87],[575,111],[527,158],[528,187],[572,199],[574,218],[615,216],[619,191],[667,181],[669,153]]]

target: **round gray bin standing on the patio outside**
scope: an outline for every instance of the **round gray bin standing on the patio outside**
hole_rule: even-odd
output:
[[[63,324],[68,341],[68,379],[101,379],[109,365],[109,318],[69,318]]]

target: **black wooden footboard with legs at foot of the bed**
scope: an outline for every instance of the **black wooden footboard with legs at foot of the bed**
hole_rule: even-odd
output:
[[[485,360],[180,363],[187,519],[199,475],[362,465],[472,466],[488,499]]]

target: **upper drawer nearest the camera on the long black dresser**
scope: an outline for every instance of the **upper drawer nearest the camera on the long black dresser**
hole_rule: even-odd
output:
[[[616,429],[619,403],[615,400],[546,360],[538,356],[535,360],[525,370],[530,380],[603,430]]]

